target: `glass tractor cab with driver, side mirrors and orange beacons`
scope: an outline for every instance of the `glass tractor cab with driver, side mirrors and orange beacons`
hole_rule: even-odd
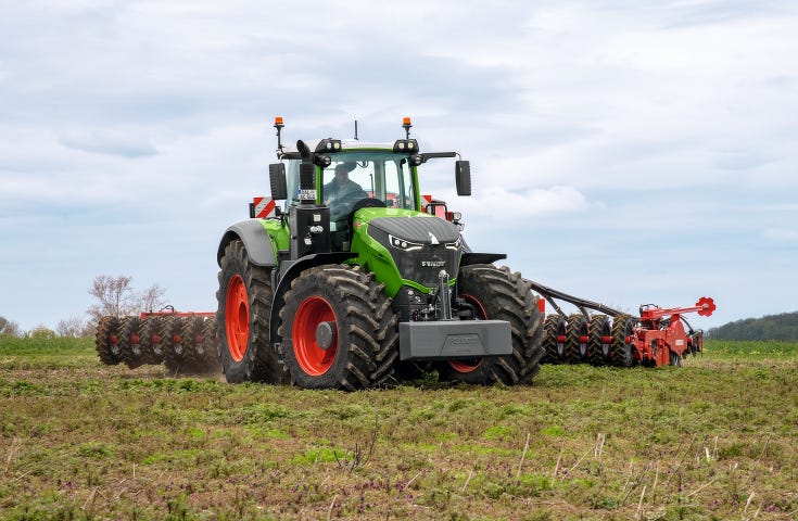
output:
[[[303,254],[349,252],[353,241],[355,213],[362,208],[385,208],[380,215],[398,217],[430,213],[452,221],[455,214],[446,212],[443,203],[426,204],[418,188],[417,167],[434,157],[456,157],[455,152],[420,153],[418,142],[410,139],[409,118],[403,127],[405,139],[393,143],[359,140],[321,139],[297,141],[295,147],[281,142],[282,120],[275,123],[278,137],[278,164],[269,166],[273,199],[284,199],[283,213],[292,223],[306,220],[311,214],[313,230],[305,233],[306,242],[294,250]],[[458,194],[470,195],[470,169],[467,161],[456,162]],[[295,218],[292,218],[291,215]],[[329,220],[328,220],[329,219]],[[299,228],[296,229],[300,232]],[[327,245],[329,238],[329,246]],[[318,241],[317,241],[318,239]],[[311,242],[322,244],[311,244]],[[320,247],[319,247],[320,246]],[[293,254],[292,258],[296,258]]]

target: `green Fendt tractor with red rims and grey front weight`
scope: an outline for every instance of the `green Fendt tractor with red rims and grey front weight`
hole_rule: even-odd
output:
[[[228,382],[358,390],[435,370],[449,381],[531,382],[544,353],[543,301],[529,281],[472,252],[460,216],[428,203],[419,168],[455,152],[320,139],[281,142],[265,218],[219,243],[219,356]],[[470,195],[467,161],[455,162]]]

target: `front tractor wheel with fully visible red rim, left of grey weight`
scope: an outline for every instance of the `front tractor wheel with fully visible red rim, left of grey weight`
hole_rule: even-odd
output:
[[[303,389],[382,384],[398,357],[391,298],[359,267],[309,268],[291,283],[280,309],[286,365]]]

